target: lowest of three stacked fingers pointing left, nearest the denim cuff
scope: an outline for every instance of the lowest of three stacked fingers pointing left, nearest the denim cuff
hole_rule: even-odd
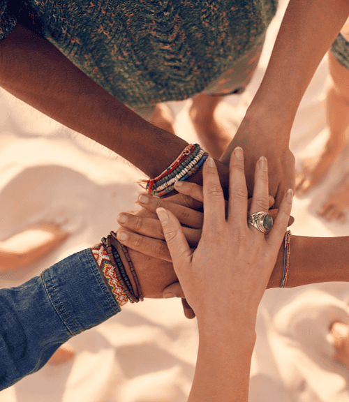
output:
[[[145,237],[125,229],[117,232],[117,239],[124,246],[149,255],[149,257],[172,262],[170,251],[164,240],[151,239],[151,237]]]

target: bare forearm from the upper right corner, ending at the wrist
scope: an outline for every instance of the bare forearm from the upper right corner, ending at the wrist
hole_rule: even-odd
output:
[[[349,15],[348,0],[290,0],[248,117],[291,128],[302,96]],[[279,138],[279,141],[282,140]],[[285,138],[288,144],[289,138]]]

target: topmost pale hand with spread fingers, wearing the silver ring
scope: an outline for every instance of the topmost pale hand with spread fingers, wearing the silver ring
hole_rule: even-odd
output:
[[[230,196],[225,218],[223,191],[214,161],[204,165],[204,225],[193,252],[177,218],[157,210],[184,295],[198,317],[199,331],[217,330],[227,317],[255,325],[258,304],[267,288],[283,241],[292,205],[292,189],[284,196],[274,226],[264,234],[246,221],[247,187],[242,149],[230,159]],[[263,168],[263,166],[265,168]],[[267,161],[255,168],[255,189],[250,214],[268,209]],[[213,274],[214,272],[214,274]],[[216,305],[220,308],[217,310]],[[230,322],[228,325],[231,326]]]

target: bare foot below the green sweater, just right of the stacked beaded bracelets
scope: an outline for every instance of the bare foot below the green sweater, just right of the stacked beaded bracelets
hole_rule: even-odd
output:
[[[215,159],[221,157],[232,140],[214,114],[221,98],[223,97],[199,94],[193,98],[189,110],[200,144]]]

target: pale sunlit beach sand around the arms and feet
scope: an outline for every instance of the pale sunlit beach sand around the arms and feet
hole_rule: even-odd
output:
[[[285,1],[268,31],[260,65],[242,96],[219,106],[222,123],[235,133],[265,71]],[[321,149],[328,135],[325,92],[327,59],[315,73],[299,107],[290,140],[297,161]],[[188,142],[196,136],[190,101],[170,103],[175,130]],[[135,209],[144,175],[82,135],[61,127],[0,92],[0,241],[30,222],[64,216],[70,237],[36,265],[0,274],[1,288],[20,285],[66,256],[96,244],[117,229],[117,214]],[[306,198],[295,198],[293,234],[346,235],[349,224],[327,223],[315,211],[329,188],[349,168],[346,150],[325,182]],[[114,227],[110,223],[114,222]],[[22,244],[39,241],[22,238]],[[292,267],[290,267],[292,275]],[[332,359],[328,326],[349,322],[348,285],[324,283],[267,290],[260,304],[251,367],[251,402],[349,401],[348,370]],[[75,356],[47,364],[0,392],[0,402],[184,402],[191,388],[198,334],[178,299],[147,299],[126,305],[103,325],[76,336]],[[1,364],[1,363],[0,363]]]

